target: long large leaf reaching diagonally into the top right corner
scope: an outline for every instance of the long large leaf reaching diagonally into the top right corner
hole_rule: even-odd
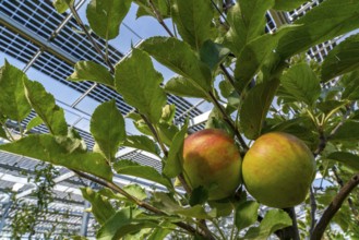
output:
[[[287,59],[311,46],[358,28],[358,9],[359,1],[323,1],[295,22],[300,26],[279,40],[277,52]]]

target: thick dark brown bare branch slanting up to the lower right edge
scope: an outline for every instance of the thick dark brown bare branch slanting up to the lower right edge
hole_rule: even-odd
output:
[[[311,240],[320,240],[322,239],[322,236],[327,227],[327,225],[331,223],[334,215],[338,212],[338,209],[342,207],[343,202],[346,200],[346,197],[350,194],[350,192],[359,184],[359,173],[351,177],[351,179],[343,185],[338,194],[334,197],[332,203],[327,206],[327,208],[324,211],[321,219],[318,221],[313,235],[310,238]]]

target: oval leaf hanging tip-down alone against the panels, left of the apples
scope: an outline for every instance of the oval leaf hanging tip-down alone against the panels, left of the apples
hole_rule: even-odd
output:
[[[106,159],[112,161],[125,139],[124,120],[116,100],[99,105],[89,122],[89,131]]]

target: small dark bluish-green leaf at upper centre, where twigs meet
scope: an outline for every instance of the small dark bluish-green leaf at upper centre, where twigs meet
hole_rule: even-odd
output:
[[[200,49],[200,58],[212,71],[215,71],[229,52],[230,50],[223,45],[206,40]]]

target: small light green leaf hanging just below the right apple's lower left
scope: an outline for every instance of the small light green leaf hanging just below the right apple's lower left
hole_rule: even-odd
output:
[[[255,201],[240,203],[236,208],[235,225],[242,230],[256,221],[260,204]]]

